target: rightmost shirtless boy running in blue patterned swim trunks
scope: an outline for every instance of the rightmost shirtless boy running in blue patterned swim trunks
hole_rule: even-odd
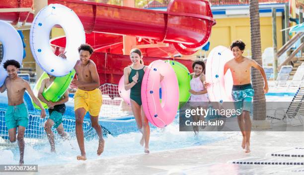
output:
[[[250,152],[250,133],[251,133],[251,101],[254,90],[251,86],[251,67],[258,69],[264,78],[264,93],[268,92],[266,74],[262,66],[255,60],[243,57],[245,43],[240,40],[233,41],[230,50],[234,58],[229,60],[224,66],[224,74],[230,69],[233,79],[232,100],[235,110],[241,110],[241,115],[237,116],[238,126],[242,132],[242,148],[246,153]],[[205,83],[207,86],[209,83]]]

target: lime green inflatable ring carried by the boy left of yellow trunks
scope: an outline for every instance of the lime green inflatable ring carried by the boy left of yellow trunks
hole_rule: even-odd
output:
[[[58,102],[62,96],[65,94],[65,92],[67,91],[67,89],[69,88],[74,75],[75,75],[75,70],[73,69],[72,71],[70,71],[70,73],[66,76],[62,76],[62,77],[56,77],[55,80],[53,81],[53,83],[43,91],[42,95],[43,97],[48,100],[48,101],[52,101],[52,102]],[[42,80],[45,78],[49,78],[48,74],[46,72],[44,72],[39,80],[37,81],[33,92],[35,94],[35,96],[38,96],[38,91],[41,87],[41,83]],[[37,106],[32,99],[32,103],[34,108],[36,109],[40,109],[39,106]],[[40,101],[40,103],[42,104],[43,108],[48,109],[47,104],[43,103]]]

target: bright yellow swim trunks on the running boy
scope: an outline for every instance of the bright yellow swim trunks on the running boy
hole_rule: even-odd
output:
[[[102,105],[102,95],[99,89],[84,91],[77,89],[74,95],[74,111],[84,108],[91,116],[99,116]]]

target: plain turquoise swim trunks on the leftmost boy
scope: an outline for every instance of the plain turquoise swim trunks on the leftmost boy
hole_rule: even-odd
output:
[[[27,127],[28,113],[25,104],[8,106],[4,118],[7,129],[16,128],[17,126]]]

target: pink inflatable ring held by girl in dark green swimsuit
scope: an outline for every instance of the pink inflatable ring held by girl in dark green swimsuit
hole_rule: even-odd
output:
[[[161,82],[160,74],[164,76]],[[163,60],[153,61],[147,68],[142,82],[143,109],[153,125],[165,127],[174,120],[179,104],[178,91],[178,82],[172,66]]]

